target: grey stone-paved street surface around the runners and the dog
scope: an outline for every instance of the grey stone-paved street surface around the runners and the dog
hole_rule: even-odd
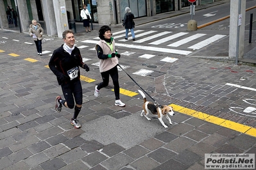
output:
[[[98,27],[90,34],[78,32],[76,45],[97,36]],[[113,31],[119,28],[113,26]],[[101,77],[92,64],[98,60],[94,50],[80,49],[83,56],[91,56],[86,61],[90,72],[81,73],[95,81],[82,81],[78,117],[82,128],[75,129],[70,125],[73,110],[54,109],[55,97],[62,91],[47,68],[48,54],[63,40],[46,37],[43,50],[49,53],[37,56],[35,45],[24,43],[31,42],[27,34],[6,30],[0,34],[0,169],[198,170],[204,169],[205,153],[256,153],[256,68],[218,60],[217,54],[226,52],[228,38],[189,56],[173,55],[178,59],[174,63],[145,61],[138,58],[140,50],[121,57],[120,64],[130,66],[126,72],[151,97],[174,107],[173,125],[164,118],[168,128],[153,116],[151,121],[140,116],[140,95],[121,95],[126,107],[115,106],[112,82],[95,98],[94,86]],[[256,54],[252,45],[245,56]],[[205,58],[209,56],[216,59]],[[150,66],[164,74],[132,74]],[[126,73],[120,71],[119,79],[121,88],[137,93],[139,87]]]

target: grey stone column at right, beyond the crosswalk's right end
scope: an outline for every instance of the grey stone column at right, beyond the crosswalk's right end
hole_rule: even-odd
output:
[[[244,26],[245,26],[245,10],[246,1],[241,0],[241,10],[239,13],[239,1],[230,1],[230,29],[229,29],[229,49],[228,58],[243,58],[244,55]],[[241,26],[238,26],[239,14],[242,15]],[[238,47],[238,49],[237,49]],[[237,54],[238,50],[238,54]]]

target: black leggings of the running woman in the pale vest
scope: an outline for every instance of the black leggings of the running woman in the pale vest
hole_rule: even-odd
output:
[[[115,100],[119,100],[120,99],[120,96],[119,96],[120,89],[119,89],[117,65],[114,68],[111,68],[110,70],[101,73],[101,77],[103,79],[103,82],[99,83],[98,90],[108,86],[109,75],[112,78],[112,81],[113,81],[113,84],[114,84]]]

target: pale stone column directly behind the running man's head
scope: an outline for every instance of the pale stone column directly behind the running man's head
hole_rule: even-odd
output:
[[[53,8],[55,9],[55,20],[58,37],[62,38],[62,33],[69,29],[69,23],[67,21],[67,10],[65,6],[65,0],[53,1]]]

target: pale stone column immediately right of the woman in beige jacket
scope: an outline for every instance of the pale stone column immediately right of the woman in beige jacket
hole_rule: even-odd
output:
[[[57,35],[57,27],[55,20],[55,12],[53,8],[53,0],[42,0],[44,12],[44,21],[46,22],[47,35]]]

